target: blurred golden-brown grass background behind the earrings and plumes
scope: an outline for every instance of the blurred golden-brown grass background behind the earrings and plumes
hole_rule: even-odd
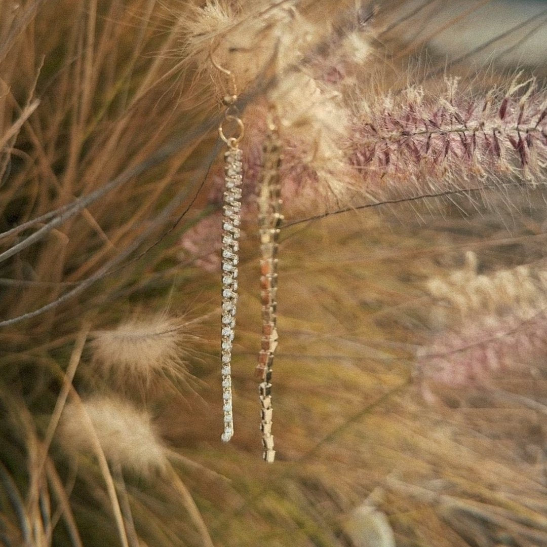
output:
[[[396,19],[410,4],[386,3],[393,11],[381,16]],[[214,545],[389,547],[390,534],[377,532],[385,522],[397,546],[547,545],[545,366],[532,374],[522,363],[486,387],[434,385],[433,402],[415,374],[416,350],[433,328],[428,280],[461,269],[467,251],[486,274],[541,267],[540,190],[350,211],[282,230],[274,465],[260,459],[258,242],[249,225],[233,366],[236,435],[220,443],[219,280],[181,259],[178,245],[208,212],[209,182],[200,185],[219,148],[214,113],[178,68],[171,9],[184,3],[0,4],[2,231],[136,168],[2,263],[2,318],[107,275],[0,331],[0,541],[123,544],[96,458],[70,457],[56,440],[47,446],[46,430],[83,324],[108,328],[135,311],[168,309],[202,317],[187,357],[196,381],[159,386],[145,406]],[[403,46],[387,37],[378,47],[382,70]],[[405,81],[399,65],[416,66],[424,47],[416,40],[393,61],[386,85]],[[454,69],[474,71],[467,60]],[[494,78],[504,70],[496,67]],[[31,232],[4,238],[3,248]],[[74,378],[84,398],[97,386],[112,390],[93,377],[91,360],[85,346]],[[208,544],[176,481],[111,472],[131,547]],[[363,505],[368,521],[353,512]]]

